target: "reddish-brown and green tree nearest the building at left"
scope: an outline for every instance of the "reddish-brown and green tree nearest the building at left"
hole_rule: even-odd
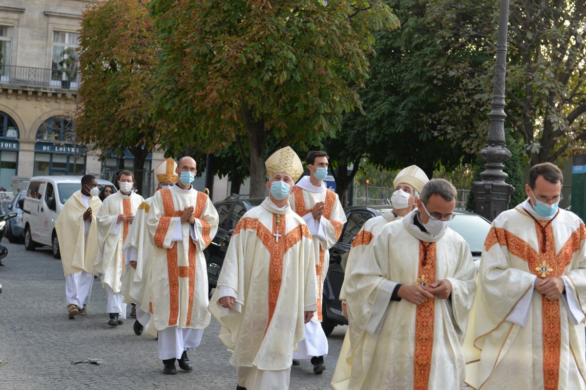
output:
[[[97,2],[84,13],[77,141],[94,144],[102,158],[127,149],[135,167],[143,167],[168,129],[151,115],[155,42],[152,19],[142,2]],[[141,189],[142,174],[135,178]]]

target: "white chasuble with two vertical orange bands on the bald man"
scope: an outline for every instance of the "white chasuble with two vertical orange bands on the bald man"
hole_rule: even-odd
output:
[[[181,222],[183,210],[193,206],[195,224]],[[216,236],[218,214],[210,198],[193,187],[178,185],[153,196],[147,214],[151,254],[151,324],[203,329],[207,311],[207,266],[203,250]],[[144,304],[144,303],[143,303]],[[147,329],[148,330],[148,329]],[[152,332],[151,332],[152,333]]]

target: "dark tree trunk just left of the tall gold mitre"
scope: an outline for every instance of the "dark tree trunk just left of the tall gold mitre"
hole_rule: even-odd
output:
[[[264,198],[267,182],[264,166],[267,132],[264,130],[262,121],[254,122],[250,108],[244,107],[242,113],[248,136],[248,154],[250,154],[250,197]]]

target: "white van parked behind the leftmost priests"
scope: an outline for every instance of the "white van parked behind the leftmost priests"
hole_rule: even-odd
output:
[[[100,190],[105,185],[116,188],[111,182],[98,179]],[[37,246],[46,245],[52,247],[55,258],[61,257],[55,222],[67,199],[79,189],[81,189],[81,176],[35,176],[30,178],[22,208],[22,227],[26,250],[35,250]]]

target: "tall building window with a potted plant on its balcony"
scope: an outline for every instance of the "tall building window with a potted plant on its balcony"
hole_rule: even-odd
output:
[[[77,47],[79,33],[53,31],[51,85],[54,87],[79,87]]]

